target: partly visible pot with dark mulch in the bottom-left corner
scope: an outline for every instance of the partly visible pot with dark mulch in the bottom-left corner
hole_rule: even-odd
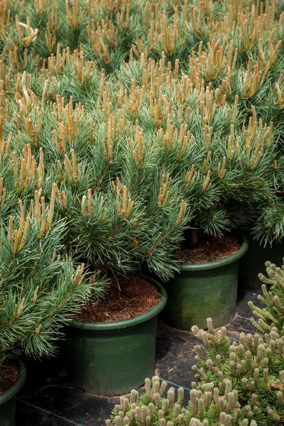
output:
[[[16,395],[26,381],[26,368],[19,360],[9,361],[1,367],[0,377],[0,425],[14,426]]]

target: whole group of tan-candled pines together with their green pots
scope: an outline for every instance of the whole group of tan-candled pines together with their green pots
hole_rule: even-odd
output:
[[[283,256],[283,13],[244,3],[1,2],[7,425],[13,356],[54,354],[64,324],[75,386],[126,393],[160,312],[224,325],[239,262],[255,285],[255,253]]]

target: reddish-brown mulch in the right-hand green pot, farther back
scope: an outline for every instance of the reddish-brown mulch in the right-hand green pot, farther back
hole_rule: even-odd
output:
[[[207,263],[226,258],[239,249],[241,249],[241,242],[233,235],[219,238],[209,234],[200,234],[200,241],[197,246],[182,247],[182,249],[175,251],[174,258],[183,264]]]

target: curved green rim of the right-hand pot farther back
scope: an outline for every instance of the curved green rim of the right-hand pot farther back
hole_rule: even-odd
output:
[[[249,249],[249,241],[246,238],[246,235],[241,233],[241,239],[243,241],[241,248],[234,254],[231,254],[230,256],[227,256],[226,258],[219,259],[218,261],[214,262],[207,262],[207,263],[195,263],[195,264],[189,264],[186,265],[180,265],[178,264],[178,268],[180,268],[180,273],[182,272],[195,272],[195,271],[209,271],[212,269],[222,268],[223,266],[227,266],[230,263],[234,263],[236,261],[239,261],[239,259],[244,256],[246,251]]]

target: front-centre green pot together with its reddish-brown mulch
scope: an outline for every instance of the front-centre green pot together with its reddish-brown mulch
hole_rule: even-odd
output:
[[[121,395],[153,376],[157,316],[167,295],[144,275],[111,280],[108,298],[89,303],[70,322],[72,383],[95,395]]]

